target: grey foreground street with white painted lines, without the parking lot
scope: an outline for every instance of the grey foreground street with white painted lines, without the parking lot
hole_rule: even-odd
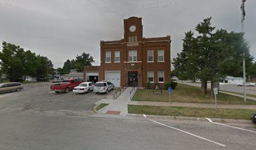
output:
[[[147,118],[49,116],[26,113],[26,111],[9,113],[2,110],[0,111],[0,149],[254,150],[256,147],[256,133],[218,126],[206,121],[156,118],[154,121],[157,123]],[[176,129],[195,134],[200,138]],[[255,128],[247,129],[256,131]]]

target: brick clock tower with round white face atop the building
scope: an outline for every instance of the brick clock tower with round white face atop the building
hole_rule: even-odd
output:
[[[142,18],[129,17],[124,19],[124,41],[139,42],[142,41]]]

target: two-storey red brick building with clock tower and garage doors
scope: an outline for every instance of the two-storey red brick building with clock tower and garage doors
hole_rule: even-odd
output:
[[[116,87],[170,82],[171,36],[145,38],[142,18],[129,17],[124,19],[124,39],[100,41],[100,66],[85,66],[83,71],[86,80],[109,80]]]

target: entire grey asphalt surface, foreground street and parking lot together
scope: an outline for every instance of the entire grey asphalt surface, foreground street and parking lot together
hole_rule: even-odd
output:
[[[0,149],[255,149],[256,126],[94,114],[106,94],[56,94],[50,83],[0,94]]]

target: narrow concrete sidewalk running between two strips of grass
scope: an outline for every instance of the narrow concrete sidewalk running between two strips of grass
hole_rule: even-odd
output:
[[[169,103],[167,102],[152,102],[152,101],[130,101],[129,104],[146,105],[146,106],[170,106]],[[190,108],[215,108],[215,104],[202,104],[202,103],[171,103],[171,106],[190,107]],[[256,110],[256,105],[217,104],[217,108]]]

